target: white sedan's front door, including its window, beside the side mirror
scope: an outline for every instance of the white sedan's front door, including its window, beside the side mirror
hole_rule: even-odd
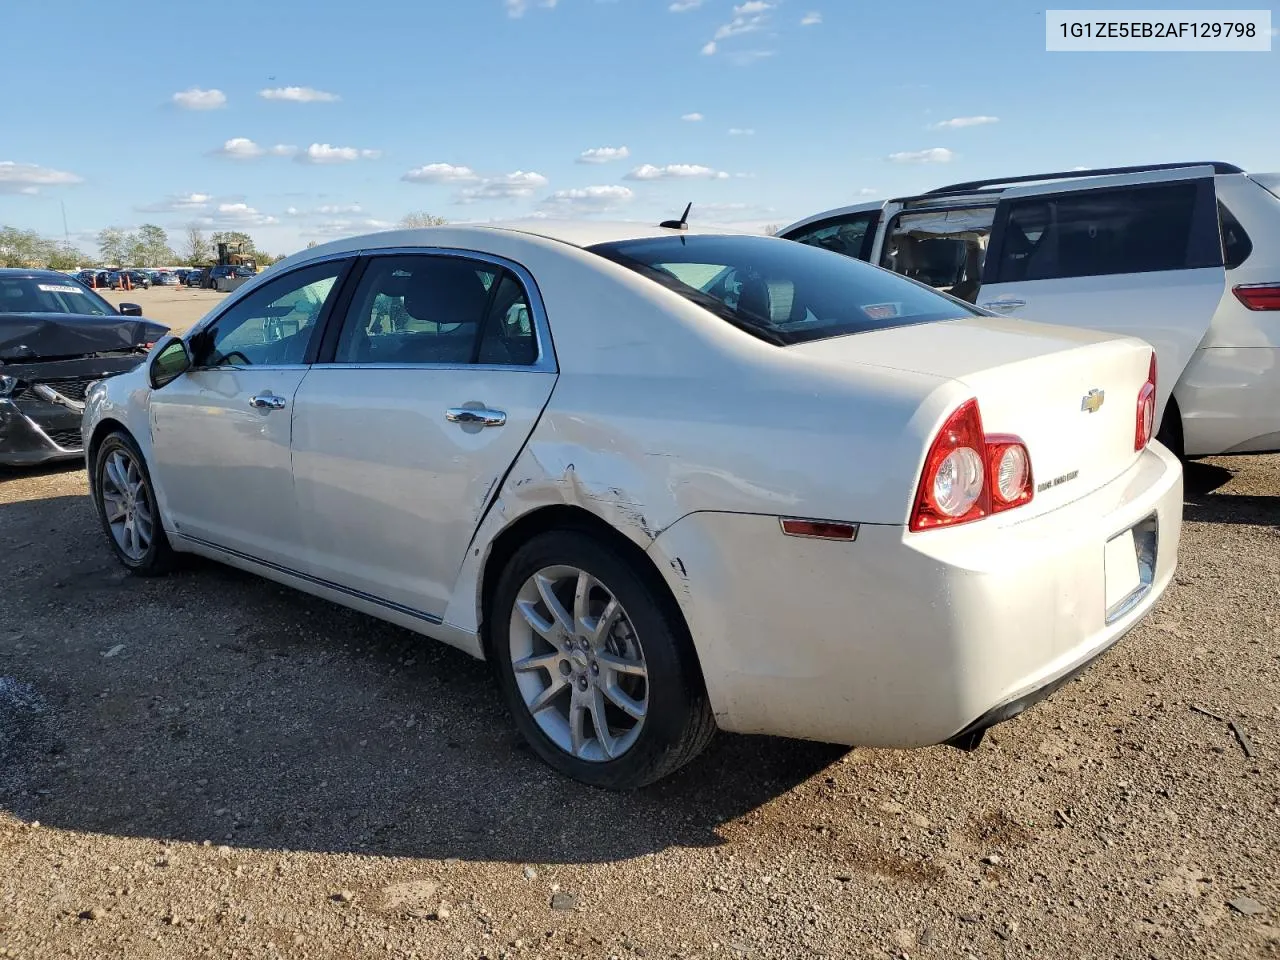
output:
[[[234,300],[188,338],[193,367],[151,394],[148,466],[179,536],[297,563],[293,397],[349,266],[301,266]]]

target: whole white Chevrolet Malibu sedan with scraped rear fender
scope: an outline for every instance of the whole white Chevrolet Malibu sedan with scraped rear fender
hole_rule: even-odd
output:
[[[490,660],[553,767],[716,728],[873,746],[1016,714],[1151,609],[1178,461],[1146,343],[687,227],[307,250],[90,390],[120,562],[195,553]]]

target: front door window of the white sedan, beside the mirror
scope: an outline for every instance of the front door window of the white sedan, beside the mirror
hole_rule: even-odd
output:
[[[303,266],[237,301],[192,338],[197,366],[305,364],[348,262]]]

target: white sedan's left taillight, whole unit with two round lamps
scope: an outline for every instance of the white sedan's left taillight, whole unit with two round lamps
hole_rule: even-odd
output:
[[[987,436],[978,401],[947,417],[924,458],[911,530],[933,530],[1020,507],[1033,497],[1032,460],[1016,436]]]

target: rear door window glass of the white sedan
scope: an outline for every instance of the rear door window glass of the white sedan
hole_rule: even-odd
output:
[[[503,364],[538,360],[525,289],[511,271],[467,257],[369,262],[338,338],[338,364]]]

